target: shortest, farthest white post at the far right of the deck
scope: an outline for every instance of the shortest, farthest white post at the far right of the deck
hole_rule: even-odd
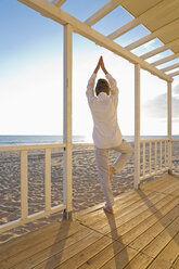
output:
[[[168,172],[172,171],[172,141],[171,141],[171,82],[167,82],[167,119],[168,119]]]

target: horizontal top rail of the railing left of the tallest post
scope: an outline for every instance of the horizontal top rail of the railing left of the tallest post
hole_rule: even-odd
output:
[[[0,146],[0,152],[13,152],[13,151],[31,151],[31,150],[44,150],[44,149],[63,149],[66,144],[35,144],[35,145],[14,145],[14,146]]]

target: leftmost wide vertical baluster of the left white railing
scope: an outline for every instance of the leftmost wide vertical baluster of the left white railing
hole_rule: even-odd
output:
[[[28,176],[27,151],[21,152],[21,217],[26,220],[28,216]]]

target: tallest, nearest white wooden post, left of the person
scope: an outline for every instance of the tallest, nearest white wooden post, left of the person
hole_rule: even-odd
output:
[[[72,218],[72,35],[69,24],[64,26],[64,218]]]

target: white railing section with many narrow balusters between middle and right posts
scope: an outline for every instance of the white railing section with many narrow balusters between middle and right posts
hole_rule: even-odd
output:
[[[169,169],[169,140],[140,140],[140,180]]]

